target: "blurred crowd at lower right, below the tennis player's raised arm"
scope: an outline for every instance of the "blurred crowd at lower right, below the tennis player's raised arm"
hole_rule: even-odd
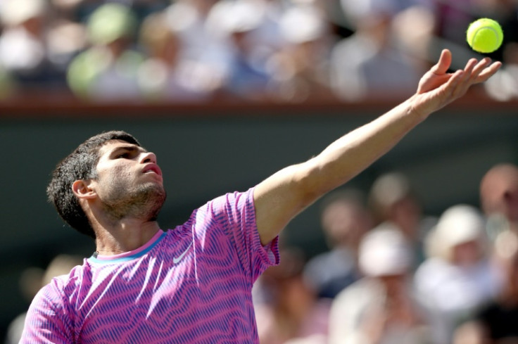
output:
[[[438,217],[384,174],[366,194],[329,194],[321,224],[329,250],[284,245],[255,284],[260,343],[518,343],[516,165],[487,172],[480,206]]]

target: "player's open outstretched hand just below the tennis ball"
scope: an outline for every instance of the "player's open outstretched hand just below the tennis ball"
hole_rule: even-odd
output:
[[[417,113],[427,116],[455,99],[463,96],[469,87],[485,82],[500,68],[502,63],[491,63],[490,58],[477,61],[471,58],[463,70],[448,73],[451,52],[444,49],[436,65],[423,75],[413,97],[412,107]]]

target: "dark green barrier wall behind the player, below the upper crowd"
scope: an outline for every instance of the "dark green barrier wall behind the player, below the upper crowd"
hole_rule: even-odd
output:
[[[62,224],[45,195],[58,160],[87,137],[123,129],[158,155],[168,190],[159,220],[172,228],[206,200],[244,191],[316,155],[392,105],[0,106],[0,340],[8,321],[27,308],[18,291],[22,269],[46,267],[57,253],[87,257],[94,251],[89,238]],[[349,185],[367,190],[379,174],[399,170],[429,214],[455,203],[478,205],[484,172],[518,160],[516,105],[465,98],[417,127]],[[308,255],[325,249],[318,205],[289,225],[286,241]]]

